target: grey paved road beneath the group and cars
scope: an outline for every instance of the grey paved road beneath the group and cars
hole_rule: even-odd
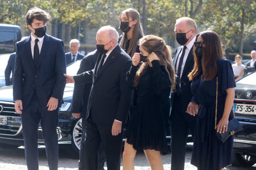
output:
[[[191,152],[192,145],[188,145],[185,160],[185,170],[196,170],[196,167],[190,164]],[[73,154],[71,153],[72,151],[69,148],[60,147],[60,159],[58,170],[78,170],[78,158],[72,156]],[[162,161],[165,170],[170,170],[170,160],[170,154],[162,156]],[[21,148],[10,148],[0,145],[0,170],[26,170],[24,150]],[[44,149],[39,150],[39,170],[49,170]],[[136,155],[135,170],[150,170],[150,166],[143,152],[138,152]],[[229,166],[226,167],[226,170],[256,170],[256,165],[249,168],[238,168]]]

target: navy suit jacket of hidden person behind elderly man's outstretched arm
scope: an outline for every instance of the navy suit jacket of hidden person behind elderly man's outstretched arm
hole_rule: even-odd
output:
[[[79,70],[77,74],[81,74],[86,71],[94,69],[98,58],[98,51],[94,50],[87,54],[81,61]],[[81,117],[86,116],[88,99],[90,95],[92,83],[80,84],[75,83],[73,90],[73,99],[72,99],[72,113],[81,113]]]

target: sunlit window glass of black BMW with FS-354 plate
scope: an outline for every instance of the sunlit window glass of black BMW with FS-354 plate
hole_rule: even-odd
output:
[[[236,84],[237,88],[256,89],[256,72],[238,80]]]

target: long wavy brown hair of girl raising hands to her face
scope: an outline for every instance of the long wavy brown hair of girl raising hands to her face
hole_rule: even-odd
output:
[[[172,83],[171,91],[173,91],[175,87],[176,76],[173,70],[173,61],[170,55],[171,51],[169,46],[166,45],[165,41],[162,38],[154,35],[143,36],[141,39],[139,39],[139,46],[143,46],[145,51],[147,51],[149,54],[154,52],[160,58],[160,65],[163,65],[166,69],[166,72],[169,75],[169,80]],[[143,75],[148,67],[148,64],[148,62],[143,62],[140,65],[134,79],[135,86],[138,85],[139,77]]]

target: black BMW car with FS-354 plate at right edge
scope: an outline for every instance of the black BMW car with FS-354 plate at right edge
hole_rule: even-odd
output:
[[[233,165],[256,163],[256,72],[236,82],[234,112],[243,130],[234,134]]]

